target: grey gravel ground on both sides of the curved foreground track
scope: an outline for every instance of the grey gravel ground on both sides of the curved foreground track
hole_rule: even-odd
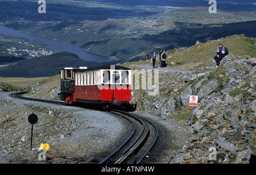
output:
[[[0,92],[0,163],[42,163],[38,148],[48,143],[47,155],[55,157],[44,163],[75,163],[67,157],[104,157],[119,147],[133,127],[126,119],[108,112],[73,106],[46,104],[14,99],[10,92]],[[31,124],[27,117],[39,117],[34,125],[33,149],[30,151]],[[135,113],[138,114],[138,113]],[[188,137],[188,126],[172,120],[161,120],[150,114],[139,114],[159,128],[159,139],[145,163],[168,163],[180,151]]]

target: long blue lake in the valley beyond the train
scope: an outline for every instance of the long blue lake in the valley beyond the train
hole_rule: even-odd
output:
[[[105,57],[105,56],[85,52],[79,47],[79,45],[69,44],[69,43],[61,42],[57,40],[45,39],[43,37],[23,33],[15,29],[5,27],[3,25],[0,25],[0,33],[3,35],[24,37],[30,41],[32,40],[43,41],[49,45],[49,46],[46,46],[46,48],[48,49],[54,50],[55,52],[64,52],[64,51],[71,52],[71,53],[77,54],[77,56],[79,56],[81,59],[84,59],[85,61],[106,62],[108,59],[108,57]]]

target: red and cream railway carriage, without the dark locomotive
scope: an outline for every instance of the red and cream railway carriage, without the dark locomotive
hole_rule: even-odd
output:
[[[123,66],[101,66],[75,70],[73,101],[126,105],[131,101],[131,70]]]

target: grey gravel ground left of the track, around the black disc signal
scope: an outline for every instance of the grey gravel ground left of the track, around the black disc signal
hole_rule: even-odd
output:
[[[0,130],[4,133],[0,137],[0,163],[35,163],[41,143],[51,146],[48,153],[52,155],[98,156],[119,146],[129,135],[122,125],[125,119],[107,112],[13,99],[4,92],[0,93],[0,106]],[[27,117],[32,112],[39,121],[34,125],[30,151]],[[72,162],[53,159],[51,163]]]

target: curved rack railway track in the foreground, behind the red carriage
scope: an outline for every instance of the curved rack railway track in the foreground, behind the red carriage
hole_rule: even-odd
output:
[[[154,123],[134,114],[120,110],[113,110],[112,113],[129,119],[134,125],[134,131],[125,143],[102,160],[100,164],[141,163],[158,139],[158,128]],[[137,134],[135,133],[137,131],[136,126],[141,127],[141,129],[138,129]]]

